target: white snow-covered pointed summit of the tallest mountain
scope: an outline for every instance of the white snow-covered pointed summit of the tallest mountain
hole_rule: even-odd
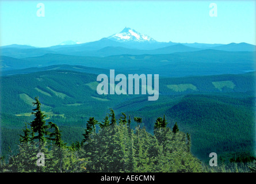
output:
[[[119,41],[119,42],[127,42],[127,41],[155,41],[150,36],[147,36],[146,34],[141,34],[139,32],[136,32],[136,30],[131,28],[124,28],[120,33],[113,34],[112,36],[109,36],[108,39]]]

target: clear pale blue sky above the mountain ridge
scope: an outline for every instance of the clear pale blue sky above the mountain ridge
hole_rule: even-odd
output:
[[[255,1],[0,1],[1,45],[100,40],[125,26],[156,41],[255,45]],[[209,16],[210,3],[217,17]],[[44,3],[45,17],[37,17]]]

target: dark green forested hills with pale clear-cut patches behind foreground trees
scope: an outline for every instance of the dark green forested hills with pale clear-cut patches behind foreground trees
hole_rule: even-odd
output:
[[[202,160],[209,152],[226,160],[253,154],[255,72],[161,78],[159,99],[148,101],[148,95],[98,95],[97,75],[58,67],[1,77],[3,155],[9,154],[9,147],[15,152],[24,122],[32,121],[36,96],[47,121],[60,127],[68,144],[82,140],[89,117],[100,121],[112,108],[117,117],[122,112],[142,117],[142,126],[150,133],[156,118],[165,114],[169,127],[177,122],[191,134],[192,153]],[[78,70],[79,66],[71,68]],[[131,123],[132,128],[135,125]]]

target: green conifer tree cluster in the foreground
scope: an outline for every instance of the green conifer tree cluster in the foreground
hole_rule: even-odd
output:
[[[40,102],[35,98],[35,119],[26,124],[20,135],[17,155],[2,172],[203,172],[201,162],[190,153],[189,134],[166,127],[165,116],[155,121],[154,135],[143,127],[142,118],[114,111],[98,122],[90,117],[84,139],[68,146],[53,122],[45,122]],[[135,130],[131,122],[137,123]],[[44,158],[41,155],[42,153]],[[43,164],[43,166],[42,166]]]

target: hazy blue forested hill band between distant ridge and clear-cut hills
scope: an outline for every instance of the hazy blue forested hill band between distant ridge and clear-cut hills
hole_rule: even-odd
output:
[[[205,49],[169,54],[113,55],[107,57],[72,56],[47,53],[42,56],[16,59],[2,56],[2,71],[30,67],[72,64],[114,69],[123,74],[161,74],[166,77],[243,74],[255,69],[255,52],[228,52]]]

